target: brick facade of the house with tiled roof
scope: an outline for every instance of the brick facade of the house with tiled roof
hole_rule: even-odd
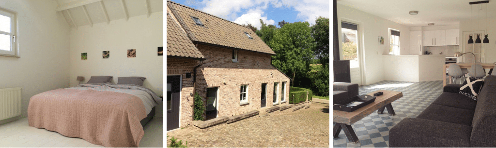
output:
[[[266,107],[288,104],[290,79],[270,65],[270,55],[238,50],[238,63],[232,61],[232,49],[198,44],[205,56],[197,69],[196,92],[206,104],[206,88],[218,87],[218,116],[233,116],[260,108],[261,85],[267,83]],[[191,124],[193,109],[193,69],[196,60],[167,58],[167,75],[182,75],[180,127]],[[186,78],[191,73],[191,78]],[[224,83],[225,82],[225,83]],[[274,82],[279,82],[277,104],[273,104]],[[285,102],[281,103],[282,82],[285,83]],[[248,85],[248,104],[241,105],[241,85]]]

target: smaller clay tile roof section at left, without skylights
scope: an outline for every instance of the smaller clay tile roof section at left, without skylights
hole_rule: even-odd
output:
[[[167,14],[167,56],[205,59],[169,13]]]

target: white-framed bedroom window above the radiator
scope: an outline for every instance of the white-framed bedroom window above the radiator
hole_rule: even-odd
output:
[[[16,54],[15,13],[0,8],[0,54]]]

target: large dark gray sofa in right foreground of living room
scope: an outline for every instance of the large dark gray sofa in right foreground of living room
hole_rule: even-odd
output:
[[[496,76],[489,75],[477,102],[444,92],[417,118],[405,118],[389,130],[389,147],[496,147]]]

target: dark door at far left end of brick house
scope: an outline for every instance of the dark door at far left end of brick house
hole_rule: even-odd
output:
[[[179,128],[179,94],[181,93],[181,76],[167,76],[167,131]]]

